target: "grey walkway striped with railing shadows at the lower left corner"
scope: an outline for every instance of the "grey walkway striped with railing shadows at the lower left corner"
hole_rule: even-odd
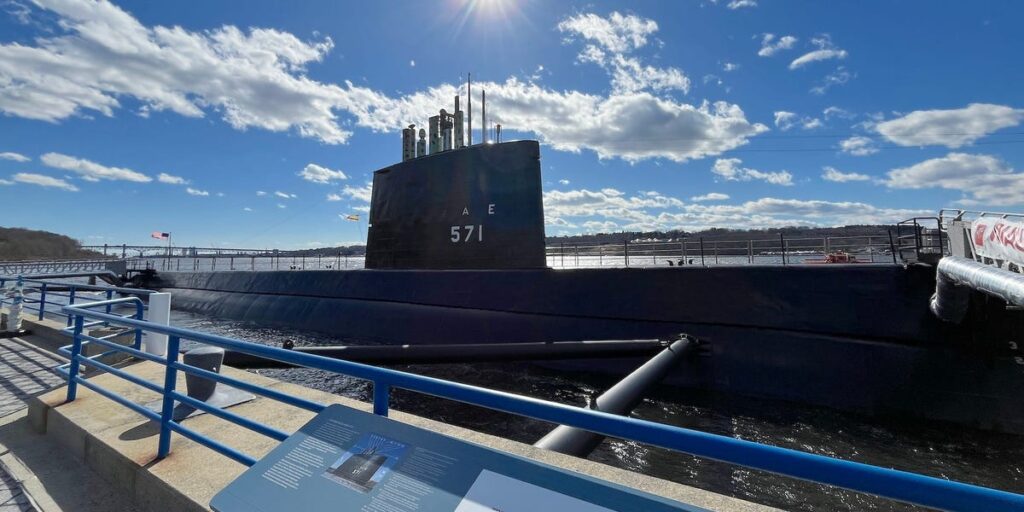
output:
[[[58,356],[19,338],[0,339],[0,512],[134,511],[59,443],[36,433],[28,400],[63,385]]]

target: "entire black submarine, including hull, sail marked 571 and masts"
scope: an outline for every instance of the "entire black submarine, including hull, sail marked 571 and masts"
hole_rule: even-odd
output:
[[[429,134],[403,129],[402,161],[374,172],[365,268],[152,271],[135,284],[171,293],[176,309],[374,344],[686,333],[700,348],[665,378],[673,393],[1024,433],[1024,359],[1011,341],[1024,333],[1021,311],[972,292],[963,322],[939,318],[934,259],[550,268],[540,142],[502,141],[497,128],[474,144],[470,114],[467,143],[463,116],[457,97]],[[558,365],[625,375],[644,360]]]

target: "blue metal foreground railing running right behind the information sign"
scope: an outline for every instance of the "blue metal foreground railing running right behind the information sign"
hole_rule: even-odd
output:
[[[172,412],[175,402],[187,403],[196,409],[279,441],[284,440],[290,435],[288,432],[229,411],[211,408],[202,401],[195,400],[177,392],[174,387],[179,371],[221,382],[313,413],[318,413],[327,407],[324,403],[292,396],[225,375],[184,365],[178,360],[180,342],[181,340],[191,340],[228,350],[289,362],[299,367],[323,370],[370,381],[373,384],[373,411],[375,414],[381,416],[387,416],[388,414],[391,389],[400,388],[926,507],[945,510],[1024,510],[1024,495],[771,446],[723,435],[709,434],[503,391],[484,389],[294,350],[286,350],[223,336],[153,324],[139,318],[126,318],[91,310],[104,306],[103,302],[96,302],[69,305],[63,308],[67,314],[74,317],[72,332],[74,343],[70,350],[72,362],[65,370],[65,375],[69,383],[68,400],[74,400],[78,386],[83,385],[135,411],[145,418],[158,422],[160,424],[158,458],[166,457],[170,453],[171,434],[172,432],[177,432],[242,464],[251,466],[256,462],[256,459],[253,457],[232,446],[216,441],[199,431],[193,430],[178,421],[174,421]],[[111,325],[121,325],[148,333],[167,335],[168,355],[160,357],[142,352],[137,346],[125,347],[102,338],[85,335],[83,334],[83,329],[86,325],[86,318],[105,322]],[[98,356],[92,358],[84,357],[82,355],[82,347],[87,343],[97,343],[111,348],[112,351],[127,352],[135,357],[164,365],[166,373],[163,385],[139,379],[123,370],[96,361],[95,359]],[[163,396],[161,413],[157,414],[150,411],[84,379],[80,375],[80,365],[82,364],[92,366],[145,389],[160,393]]]

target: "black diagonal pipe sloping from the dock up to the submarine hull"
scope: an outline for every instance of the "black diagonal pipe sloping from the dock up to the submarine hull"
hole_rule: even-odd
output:
[[[696,339],[682,335],[668,348],[598,396],[591,404],[591,409],[602,413],[628,415],[640,403],[644,393],[662,382],[669,371],[674,369],[683,356],[691,353],[697,344]],[[603,439],[604,436],[601,434],[559,425],[534,445],[560,454],[587,457]]]

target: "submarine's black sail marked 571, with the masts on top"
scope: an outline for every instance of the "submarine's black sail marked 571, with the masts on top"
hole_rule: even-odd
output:
[[[423,129],[414,150],[410,126],[402,130],[403,161],[374,172],[367,268],[546,266],[540,144],[484,136],[466,145],[461,127],[457,97],[454,115],[430,118],[429,155]]]

